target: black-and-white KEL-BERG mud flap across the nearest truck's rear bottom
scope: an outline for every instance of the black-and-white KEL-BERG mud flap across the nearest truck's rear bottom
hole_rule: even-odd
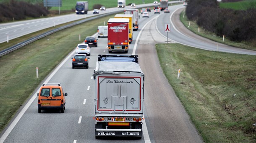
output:
[[[130,130],[96,129],[95,136],[142,137],[142,130],[141,129],[130,129]]]

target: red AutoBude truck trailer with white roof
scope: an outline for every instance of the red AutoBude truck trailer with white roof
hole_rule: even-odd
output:
[[[129,19],[110,18],[107,22],[108,52],[121,51],[128,53],[129,50]]]

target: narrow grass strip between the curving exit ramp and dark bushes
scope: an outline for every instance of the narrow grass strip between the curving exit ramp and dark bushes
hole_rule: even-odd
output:
[[[223,42],[223,37],[216,36],[214,33],[204,30],[203,28],[200,28],[200,32],[198,32],[199,26],[196,24],[195,21],[189,21],[186,15],[183,18],[183,12],[180,13],[180,21],[185,25],[186,28],[191,30],[193,33],[200,35],[202,37],[211,39],[213,41],[223,43],[226,45],[231,45],[238,48],[248,49],[248,50],[256,50],[255,45],[253,45],[253,42],[251,41],[242,41],[240,43],[231,41],[227,37],[225,37]],[[190,22],[190,26],[189,26]]]

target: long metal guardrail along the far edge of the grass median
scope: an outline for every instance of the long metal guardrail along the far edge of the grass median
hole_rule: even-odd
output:
[[[179,1],[178,1],[178,2],[179,2]],[[178,2],[171,2],[171,3],[178,3]],[[169,2],[169,4],[170,4],[170,2]],[[157,4],[157,5],[159,5],[159,4]],[[148,5],[145,5],[145,6],[137,6],[136,9],[145,8],[145,7],[151,7],[151,6],[154,6],[154,4],[148,4]],[[9,48],[6,48],[5,50],[1,50],[1,51],[0,51],[0,57],[2,57],[3,55],[8,54],[8,53],[10,53],[10,52],[12,52],[12,51],[14,51],[14,50],[17,50],[17,49],[19,49],[19,48],[21,48],[21,47],[23,47],[23,46],[25,46],[25,45],[28,45],[28,44],[30,44],[30,43],[33,43],[33,42],[36,41],[36,40],[42,39],[42,38],[44,38],[44,37],[46,37],[46,36],[48,36],[48,35],[51,35],[51,34],[53,34],[53,33],[56,33],[56,32],[58,32],[58,31],[60,31],[60,30],[64,30],[64,29],[66,29],[66,28],[70,28],[70,27],[72,27],[72,26],[75,26],[75,25],[78,25],[78,24],[81,24],[81,23],[85,23],[85,22],[90,21],[90,20],[94,20],[94,19],[97,19],[97,18],[102,18],[102,17],[107,16],[107,15],[112,15],[112,14],[115,14],[115,13],[120,13],[120,12],[123,12],[123,10],[124,10],[124,9],[122,8],[122,9],[120,9],[120,10],[113,11],[113,12],[110,12],[110,13],[104,13],[104,14],[101,14],[101,15],[98,15],[98,16],[89,17],[89,18],[86,18],[86,19],[84,19],[84,20],[80,20],[80,21],[77,21],[77,22],[74,22],[74,23],[71,23],[71,24],[62,26],[62,27],[60,27],[60,28],[56,28],[56,29],[54,29],[54,30],[47,31],[46,33],[43,33],[43,34],[37,35],[37,36],[35,36],[35,37],[29,38],[28,40],[25,40],[25,41],[23,41],[23,42],[21,42],[21,43],[18,43],[18,44],[13,45],[13,46],[11,46],[11,47],[9,47]]]

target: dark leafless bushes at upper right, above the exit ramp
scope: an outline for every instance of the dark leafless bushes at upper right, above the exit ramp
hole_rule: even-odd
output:
[[[251,41],[256,45],[256,9],[232,10],[219,8],[217,0],[189,0],[188,20],[199,27],[228,37],[232,41]]]

